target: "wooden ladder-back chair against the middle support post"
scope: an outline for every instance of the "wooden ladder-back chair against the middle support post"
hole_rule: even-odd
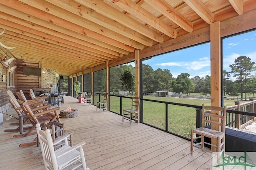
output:
[[[134,119],[135,121],[137,121],[137,124],[138,124],[139,105],[140,105],[140,97],[132,97],[132,108],[123,109],[123,123],[124,123],[124,119],[129,120],[130,126],[131,126],[131,122]]]

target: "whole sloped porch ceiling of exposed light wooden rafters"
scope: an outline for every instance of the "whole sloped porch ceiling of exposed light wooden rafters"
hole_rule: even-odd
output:
[[[256,9],[254,0],[1,0],[8,56],[71,75]],[[1,47],[1,58],[5,49]]]

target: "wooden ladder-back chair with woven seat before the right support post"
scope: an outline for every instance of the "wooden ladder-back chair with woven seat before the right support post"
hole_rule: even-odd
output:
[[[210,145],[213,148],[216,148],[216,152],[219,154],[225,151],[225,123],[226,123],[226,111],[227,107],[215,107],[215,106],[204,106],[202,104],[202,117],[201,117],[201,127],[191,130],[191,147],[190,153],[193,154],[193,147],[200,148],[202,150],[212,152],[209,149],[205,149],[204,144]],[[215,114],[218,113],[218,114]],[[210,119],[205,119],[209,117]],[[205,123],[210,123],[211,126],[218,127],[219,130],[209,129],[204,127]],[[194,137],[194,134],[198,137]],[[204,137],[208,137],[212,140],[217,141],[217,144],[207,143],[204,141]],[[201,139],[201,142],[194,143],[194,139]]]

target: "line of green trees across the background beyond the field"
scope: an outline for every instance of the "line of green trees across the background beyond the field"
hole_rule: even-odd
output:
[[[255,62],[252,62],[249,57],[240,56],[235,59],[234,64],[230,64],[231,71],[223,70],[223,94],[224,96],[238,96],[241,98],[243,94],[245,97],[247,93],[254,93],[254,79],[256,74],[252,74],[256,68]],[[116,90],[125,90],[122,88],[120,80],[124,71],[130,71],[135,74],[135,68],[131,64],[124,64],[110,68],[109,83],[110,92]],[[94,72],[94,92],[105,92],[106,70]],[[234,78],[232,78],[234,77]],[[143,92],[156,92],[168,90],[183,94],[199,93],[202,95],[210,94],[210,80],[211,77],[206,75],[204,77],[195,76],[190,78],[190,74],[181,73],[177,78],[168,69],[158,68],[154,70],[148,64],[142,64],[142,82]]]

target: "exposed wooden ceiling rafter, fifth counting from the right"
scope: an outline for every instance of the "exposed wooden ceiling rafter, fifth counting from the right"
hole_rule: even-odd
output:
[[[112,20],[115,20],[127,27],[130,27],[130,29],[137,31],[138,33],[141,33],[142,35],[145,35],[146,37],[149,37],[150,39],[153,39],[156,42],[162,43],[164,40],[163,36],[157,33],[156,31],[146,27],[142,23],[130,18],[129,16],[126,16],[124,13],[106,4],[102,0],[86,0],[86,1],[75,0],[75,1],[88,8],[95,10],[96,12]]]

